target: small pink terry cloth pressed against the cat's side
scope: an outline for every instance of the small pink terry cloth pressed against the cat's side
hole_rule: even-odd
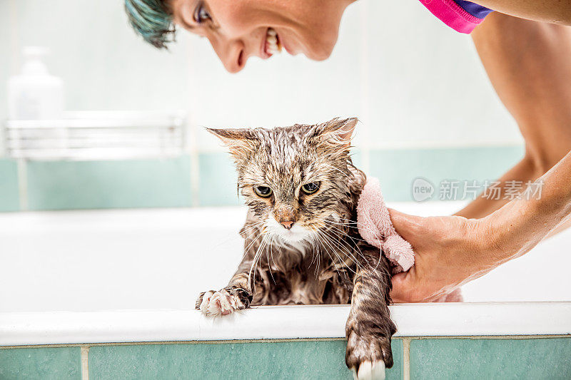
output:
[[[388,208],[380,192],[379,181],[368,178],[357,205],[359,233],[395,264],[394,273],[406,272],[415,263],[413,247],[403,239],[390,221]]]

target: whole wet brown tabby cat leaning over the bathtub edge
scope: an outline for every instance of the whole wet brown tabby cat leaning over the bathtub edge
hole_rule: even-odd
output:
[[[225,315],[253,305],[351,304],[345,362],[359,379],[393,365],[390,263],[359,235],[365,173],[349,150],[356,118],[273,129],[209,129],[229,148],[248,205],[244,255],[228,286],[196,309]]]

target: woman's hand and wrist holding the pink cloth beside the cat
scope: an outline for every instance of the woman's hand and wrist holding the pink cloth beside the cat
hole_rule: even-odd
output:
[[[390,210],[397,232],[415,250],[415,265],[393,277],[394,302],[436,302],[504,260],[487,219],[418,217]]]

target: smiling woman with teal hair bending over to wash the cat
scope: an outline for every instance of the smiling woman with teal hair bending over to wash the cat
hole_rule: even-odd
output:
[[[126,0],[126,11],[154,46],[165,47],[174,26],[181,26],[208,38],[226,69],[236,73],[249,57],[269,58],[281,47],[314,60],[328,58],[351,2]],[[482,196],[450,217],[391,210],[396,229],[416,252],[415,266],[393,279],[396,302],[442,299],[524,255],[571,217],[571,1],[421,2],[451,28],[471,33],[490,81],[525,138],[525,157],[500,178],[500,195],[510,181],[537,180],[541,196]]]

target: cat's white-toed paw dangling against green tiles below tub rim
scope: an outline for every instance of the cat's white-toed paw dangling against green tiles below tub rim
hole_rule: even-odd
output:
[[[390,338],[350,331],[345,363],[353,372],[355,380],[385,379],[385,368],[393,366]]]

